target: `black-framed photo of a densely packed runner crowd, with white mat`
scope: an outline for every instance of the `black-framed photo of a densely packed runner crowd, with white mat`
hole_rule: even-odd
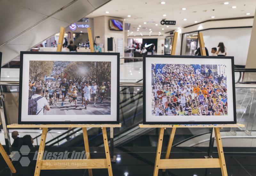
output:
[[[234,57],[143,57],[144,124],[235,124]]]

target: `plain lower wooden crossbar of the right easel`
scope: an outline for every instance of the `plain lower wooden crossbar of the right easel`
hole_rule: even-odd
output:
[[[159,169],[220,168],[219,158],[160,159]]]

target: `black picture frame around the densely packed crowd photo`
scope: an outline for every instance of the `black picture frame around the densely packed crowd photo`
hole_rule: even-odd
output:
[[[146,121],[146,58],[196,58],[196,59],[231,59],[232,69],[232,90],[233,90],[233,121],[214,121],[214,122],[147,122]],[[150,75],[151,76],[151,75]],[[236,124],[236,92],[235,92],[235,73],[234,73],[234,57],[233,56],[178,56],[178,55],[143,55],[143,124]]]

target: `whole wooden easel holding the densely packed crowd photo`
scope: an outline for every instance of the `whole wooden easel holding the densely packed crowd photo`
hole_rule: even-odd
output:
[[[172,51],[171,55],[175,55],[176,44],[177,44],[178,32],[174,33],[173,41],[172,41]],[[200,45],[200,52],[202,56],[206,56],[205,47],[204,47],[204,38],[203,33],[198,34],[198,40]],[[144,125],[140,124],[140,128],[160,128],[159,138],[157,143],[157,151],[156,151],[156,160],[154,167],[153,176],[158,175],[159,169],[163,169],[165,172],[166,169],[185,169],[185,168],[220,168],[222,176],[228,176],[224,152],[222,148],[222,142],[220,137],[220,128],[228,127],[228,128],[237,128],[244,127],[243,124],[200,124],[200,125]],[[166,128],[172,128],[172,132],[170,134],[169,142],[166,149],[165,159],[160,159],[164,130]],[[199,158],[199,159],[169,159],[170,152],[172,148],[172,142],[175,136],[176,128],[213,128],[216,138],[216,144],[218,148],[219,158]]]

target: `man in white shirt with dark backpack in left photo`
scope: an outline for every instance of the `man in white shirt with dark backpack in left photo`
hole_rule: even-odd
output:
[[[42,92],[41,87],[36,87],[35,94],[28,98],[28,115],[44,115],[44,109],[50,110],[46,98],[42,97]]]

